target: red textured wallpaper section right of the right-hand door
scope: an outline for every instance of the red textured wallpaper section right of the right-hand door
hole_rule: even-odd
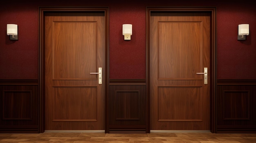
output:
[[[254,4],[255,6],[255,4]],[[217,14],[218,79],[256,79],[256,9],[220,5]],[[249,24],[247,40],[237,40],[238,24]]]

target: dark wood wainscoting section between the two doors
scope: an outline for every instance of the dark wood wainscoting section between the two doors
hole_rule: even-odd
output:
[[[144,80],[110,80],[109,133],[146,133],[146,83]]]

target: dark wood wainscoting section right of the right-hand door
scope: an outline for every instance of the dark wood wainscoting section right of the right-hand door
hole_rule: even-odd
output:
[[[256,132],[256,80],[217,80],[216,133]]]

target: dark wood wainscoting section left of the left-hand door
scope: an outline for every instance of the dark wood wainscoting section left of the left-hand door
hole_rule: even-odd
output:
[[[39,133],[37,79],[1,79],[0,105],[0,133]]]

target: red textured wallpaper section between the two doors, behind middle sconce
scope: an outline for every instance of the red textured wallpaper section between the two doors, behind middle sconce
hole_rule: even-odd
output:
[[[146,9],[142,8],[110,7],[110,79],[146,78]],[[123,24],[132,24],[131,40],[124,40]]]

